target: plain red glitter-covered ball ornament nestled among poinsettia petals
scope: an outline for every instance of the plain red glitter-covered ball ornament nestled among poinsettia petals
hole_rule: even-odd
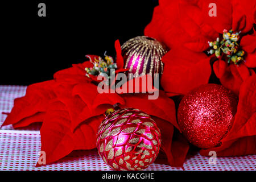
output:
[[[197,147],[218,146],[232,126],[237,102],[237,96],[222,85],[201,85],[180,102],[177,111],[180,129]]]

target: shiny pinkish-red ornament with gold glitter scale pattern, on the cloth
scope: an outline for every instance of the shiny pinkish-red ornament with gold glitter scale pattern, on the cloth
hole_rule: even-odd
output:
[[[150,115],[133,108],[112,111],[99,126],[98,153],[116,170],[148,167],[160,150],[160,131]]]

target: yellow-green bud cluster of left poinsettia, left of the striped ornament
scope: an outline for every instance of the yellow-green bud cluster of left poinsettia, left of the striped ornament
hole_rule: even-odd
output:
[[[94,57],[94,60],[90,58],[90,56],[86,56],[90,59],[90,62],[93,64],[92,68],[85,68],[86,76],[90,77],[89,75],[102,75],[106,74],[110,76],[112,73],[110,72],[110,69],[117,69],[117,64],[114,63],[113,57],[105,55],[105,60],[101,57],[98,57],[96,59]]]

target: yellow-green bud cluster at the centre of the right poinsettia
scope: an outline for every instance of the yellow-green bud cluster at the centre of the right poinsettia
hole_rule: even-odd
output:
[[[215,53],[217,58],[226,55],[228,57],[228,63],[232,61],[234,64],[241,63],[243,59],[243,55],[245,55],[245,51],[243,51],[240,46],[238,40],[240,39],[240,32],[233,32],[233,30],[227,31],[223,30],[222,40],[217,38],[214,42],[208,42],[209,46],[213,49],[210,49],[208,53]]]

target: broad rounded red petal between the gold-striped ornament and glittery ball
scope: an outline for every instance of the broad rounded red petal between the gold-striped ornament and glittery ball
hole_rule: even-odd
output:
[[[161,85],[166,92],[186,94],[206,84],[212,68],[204,53],[172,49],[163,56],[164,72]]]

